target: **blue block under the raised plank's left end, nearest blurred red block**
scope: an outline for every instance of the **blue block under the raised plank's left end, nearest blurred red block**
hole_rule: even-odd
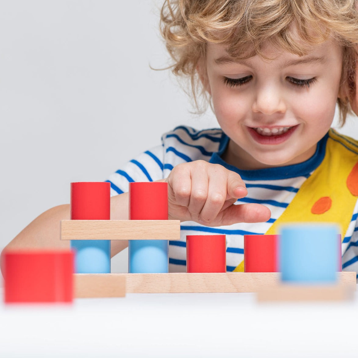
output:
[[[110,274],[110,240],[71,240],[76,274]]]

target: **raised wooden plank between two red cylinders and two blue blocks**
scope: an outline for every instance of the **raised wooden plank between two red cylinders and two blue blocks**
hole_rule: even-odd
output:
[[[179,240],[179,220],[62,220],[61,240]]]

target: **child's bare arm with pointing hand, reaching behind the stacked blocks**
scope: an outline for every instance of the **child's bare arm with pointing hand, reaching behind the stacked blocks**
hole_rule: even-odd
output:
[[[207,226],[270,219],[270,210],[263,205],[233,205],[247,195],[245,184],[240,175],[219,164],[203,160],[179,164],[168,178],[158,181],[168,182],[169,219],[195,221]],[[69,204],[49,209],[26,226],[4,250],[69,248],[68,241],[60,240],[60,221],[69,218]],[[111,219],[128,219],[128,193],[111,197]],[[111,256],[127,246],[128,241],[112,241]]]

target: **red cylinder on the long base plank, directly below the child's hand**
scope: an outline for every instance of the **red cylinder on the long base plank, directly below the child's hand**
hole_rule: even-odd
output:
[[[226,235],[187,235],[187,272],[226,272]]]

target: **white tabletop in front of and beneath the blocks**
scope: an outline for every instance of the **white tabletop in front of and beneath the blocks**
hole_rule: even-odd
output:
[[[357,297],[259,304],[252,293],[127,294],[68,306],[1,303],[0,357],[357,357],[357,321]]]

